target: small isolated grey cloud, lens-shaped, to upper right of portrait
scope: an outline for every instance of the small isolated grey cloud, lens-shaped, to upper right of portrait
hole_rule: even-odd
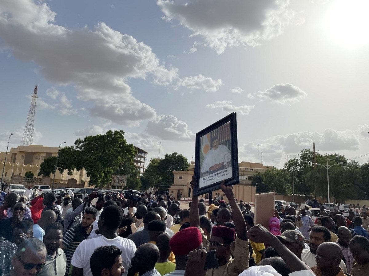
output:
[[[261,99],[266,98],[278,104],[293,104],[305,98],[307,93],[290,83],[279,83],[268,90],[259,91],[257,95]]]

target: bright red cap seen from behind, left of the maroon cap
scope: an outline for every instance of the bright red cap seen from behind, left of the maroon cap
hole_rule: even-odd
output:
[[[202,242],[203,237],[199,228],[188,227],[170,238],[169,245],[175,256],[187,256],[190,251],[197,249]]]

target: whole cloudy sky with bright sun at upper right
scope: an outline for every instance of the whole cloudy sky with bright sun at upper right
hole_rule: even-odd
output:
[[[366,0],[0,0],[0,151],[124,130],[193,160],[237,112],[239,161],[302,149],[369,160]],[[160,143],[160,149],[159,149]],[[262,155],[261,155],[262,144]]]

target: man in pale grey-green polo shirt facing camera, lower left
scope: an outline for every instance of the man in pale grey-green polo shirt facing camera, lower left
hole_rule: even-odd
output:
[[[48,224],[45,228],[46,264],[37,276],[64,276],[67,259],[59,247],[62,245],[63,226],[59,222]]]

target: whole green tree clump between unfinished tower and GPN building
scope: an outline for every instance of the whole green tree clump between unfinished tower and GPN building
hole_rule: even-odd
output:
[[[165,154],[164,159],[152,159],[141,176],[141,189],[147,190],[151,186],[173,185],[173,171],[189,170],[187,158],[176,152]]]

